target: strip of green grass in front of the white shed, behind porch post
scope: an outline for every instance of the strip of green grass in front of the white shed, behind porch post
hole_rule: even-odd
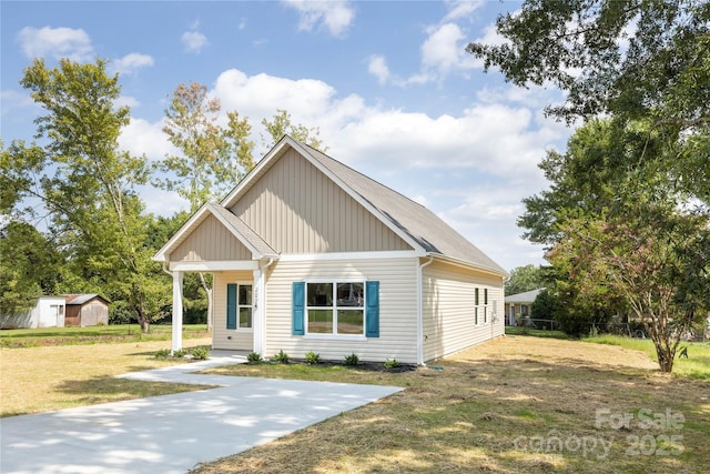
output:
[[[209,336],[205,324],[183,325],[183,339]],[[138,341],[169,341],[172,325],[153,324],[146,334],[138,324],[116,324],[89,327],[41,327],[0,331],[1,347],[36,347],[44,345],[77,345]]]

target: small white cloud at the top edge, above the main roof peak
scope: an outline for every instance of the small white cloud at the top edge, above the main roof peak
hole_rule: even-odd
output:
[[[284,4],[298,11],[301,31],[313,31],[322,24],[334,37],[342,37],[355,19],[355,10],[348,1],[285,0]]]

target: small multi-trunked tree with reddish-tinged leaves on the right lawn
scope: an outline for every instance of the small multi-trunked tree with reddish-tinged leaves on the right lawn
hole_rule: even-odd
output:
[[[552,264],[570,266],[580,294],[594,295],[604,282],[623,296],[663,372],[672,371],[681,337],[710,310],[710,218],[672,204],[648,200],[622,215],[570,220],[549,254]]]

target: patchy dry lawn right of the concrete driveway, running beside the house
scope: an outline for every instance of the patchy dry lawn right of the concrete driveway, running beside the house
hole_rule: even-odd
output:
[[[704,366],[710,372],[710,364]],[[710,384],[643,352],[508,336],[404,373],[241,365],[211,373],[406,386],[194,473],[707,472]]]

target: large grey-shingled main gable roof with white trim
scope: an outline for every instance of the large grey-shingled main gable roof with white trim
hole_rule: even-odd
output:
[[[507,274],[496,262],[422,204],[288,135],[276,143],[222,201],[222,205],[233,206],[290,148],[337,183],[422,255],[434,255],[499,275]]]

